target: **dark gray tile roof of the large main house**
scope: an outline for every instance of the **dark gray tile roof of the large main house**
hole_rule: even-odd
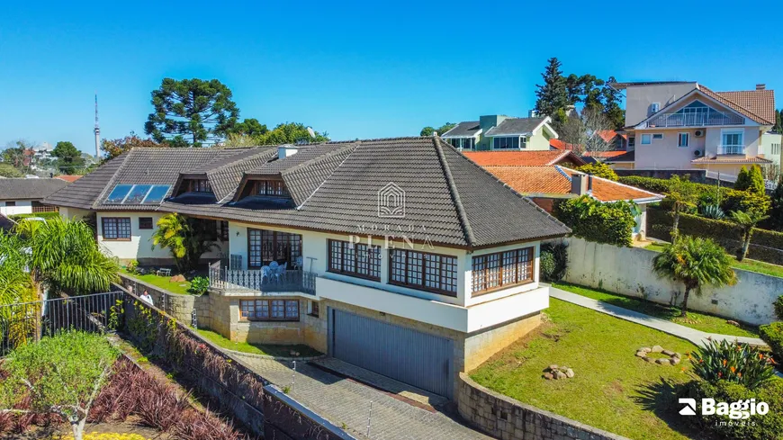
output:
[[[139,150],[167,154],[151,157],[148,152],[139,155],[137,150],[131,150],[74,184],[100,182],[102,190],[88,186],[89,191],[76,193],[73,202],[67,200],[67,193],[58,194],[57,200],[61,202],[58,204],[80,203],[99,211],[110,209],[101,201],[123,179],[159,178],[173,184],[179,171],[202,170],[204,164],[221,160],[217,153],[202,153],[197,149]],[[291,157],[266,162],[243,173],[245,178],[269,173],[282,175],[293,202],[274,203],[259,197],[240,202],[177,197],[150,209],[346,234],[365,234],[380,228],[375,235],[383,236],[384,230],[392,233],[402,230],[413,240],[466,248],[561,237],[570,231],[535,203],[509,191],[497,178],[440,138],[328,142],[307,146]],[[96,174],[97,177],[91,177]],[[406,193],[406,212],[402,219],[378,216],[378,191],[390,182]],[[86,201],[90,195],[92,205]],[[127,211],[128,206],[121,209]],[[135,205],[133,209],[145,208]]]

